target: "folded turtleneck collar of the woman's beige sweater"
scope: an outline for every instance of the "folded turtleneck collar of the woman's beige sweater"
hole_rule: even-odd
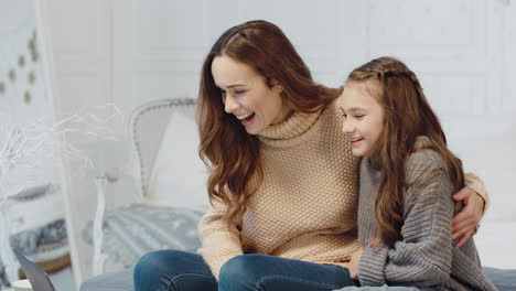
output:
[[[258,134],[261,140],[289,140],[307,132],[318,120],[321,110],[313,114],[294,112],[281,123],[269,126]]]

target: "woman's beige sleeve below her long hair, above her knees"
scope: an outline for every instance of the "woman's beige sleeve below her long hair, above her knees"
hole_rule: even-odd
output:
[[[198,254],[203,256],[217,280],[224,263],[244,254],[239,231],[223,218],[227,206],[224,203],[214,202],[212,209],[198,225],[203,242]]]

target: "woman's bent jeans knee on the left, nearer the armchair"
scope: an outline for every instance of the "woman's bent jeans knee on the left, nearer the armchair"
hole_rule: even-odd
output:
[[[180,250],[152,251],[135,267],[135,291],[217,291],[203,258]]]

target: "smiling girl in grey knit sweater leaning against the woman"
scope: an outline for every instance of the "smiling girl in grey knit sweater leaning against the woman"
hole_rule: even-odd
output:
[[[470,238],[452,245],[464,186],[462,163],[447,148],[416,75],[380,57],[350,74],[341,100],[343,131],[361,162],[358,240],[350,273],[362,285],[496,290],[482,274]]]

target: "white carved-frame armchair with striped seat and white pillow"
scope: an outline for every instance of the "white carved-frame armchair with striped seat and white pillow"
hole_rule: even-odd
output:
[[[194,99],[166,99],[135,110],[129,130],[136,164],[126,170],[137,180],[138,203],[105,211],[105,184],[127,171],[97,180],[97,213],[83,230],[94,246],[94,276],[104,273],[106,262],[131,268],[151,250],[198,248],[196,225],[209,202],[194,109]]]

